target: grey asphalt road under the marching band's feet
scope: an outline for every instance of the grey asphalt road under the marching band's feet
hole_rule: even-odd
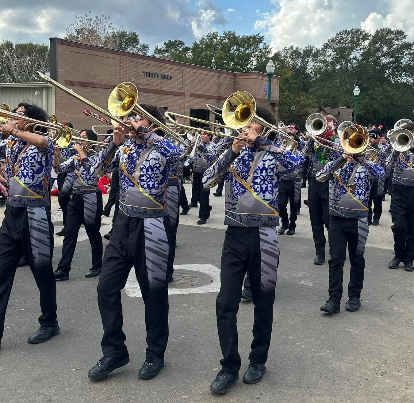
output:
[[[190,185],[186,185],[190,194]],[[303,190],[306,197],[306,190]],[[224,239],[223,198],[212,198],[213,214],[194,225],[197,211],[182,217],[176,264],[219,268]],[[221,352],[217,337],[217,292],[170,295],[170,336],[166,365],[150,381],[138,379],[145,349],[144,305],[123,293],[124,331],[130,363],[104,381],[90,381],[87,371],[101,357],[102,325],[96,303],[97,278],[84,278],[90,267],[89,242],[79,234],[70,280],[59,282],[61,332],[51,341],[30,345],[38,327],[39,297],[28,267],[18,269],[6,315],[0,351],[0,402],[414,402],[414,273],[387,268],[392,257],[389,198],[379,227],[370,227],[359,312],[330,316],[319,307],[327,298],[328,265],[314,266],[313,241],[306,206],[294,236],[279,237],[272,343],[262,382],[238,381],[224,396],[214,396]],[[53,200],[55,230],[61,213]],[[103,219],[101,233],[110,228]],[[62,238],[55,238],[56,265]],[[104,241],[106,242],[106,241]],[[207,290],[207,289],[206,289]],[[238,313],[241,376],[248,365],[253,305],[241,302]]]

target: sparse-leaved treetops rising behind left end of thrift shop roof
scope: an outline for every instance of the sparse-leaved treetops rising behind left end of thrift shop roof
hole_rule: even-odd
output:
[[[84,16],[75,15],[75,22],[63,30],[64,38],[68,41],[87,43],[94,46],[104,46],[126,52],[147,55],[149,46],[141,43],[135,31],[116,29],[111,23],[111,16],[101,15],[92,17],[91,12]]]

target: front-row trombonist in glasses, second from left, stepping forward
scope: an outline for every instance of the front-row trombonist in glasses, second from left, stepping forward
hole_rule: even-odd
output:
[[[159,108],[141,105],[164,121]],[[125,120],[124,122],[129,122]],[[103,324],[103,357],[88,372],[91,379],[105,378],[129,362],[122,331],[121,290],[135,267],[145,305],[147,354],[138,377],[154,378],[164,366],[168,341],[169,254],[166,209],[168,172],[180,151],[170,141],[149,132],[150,122],[140,115],[129,122],[133,130],[128,139],[124,126],[114,127],[113,141],[99,154],[92,174],[113,171],[119,166],[119,214],[111,239],[105,248],[98,283],[98,305]],[[120,146],[122,144],[122,146]],[[113,155],[115,156],[113,157]]]

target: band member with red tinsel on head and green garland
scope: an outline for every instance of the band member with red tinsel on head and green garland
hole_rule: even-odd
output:
[[[337,120],[332,115],[326,116],[327,128],[321,137],[334,139],[337,130]],[[308,168],[308,201],[310,225],[312,227],[313,242],[315,242],[316,257],[313,264],[325,262],[326,238],[323,226],[329,229],[329,185],[328,182],[318,182],[315,179],[318,171],[328,162],[338,157],[336,151],[323,146],[315,146],[312,138],[305,144],[304,154],[309,154]]]

